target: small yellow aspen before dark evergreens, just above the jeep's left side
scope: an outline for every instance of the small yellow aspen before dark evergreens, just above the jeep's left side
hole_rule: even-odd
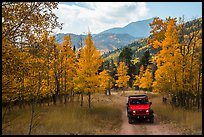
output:
[[[120,62],[118,67],[118,72],[116,76],[118,76],[118,80],[116,80],[115,86],[119,88],[127,87],[127,82],[130,79],[130,76],[127,75],[128,67],[125,65],[124,62]]]

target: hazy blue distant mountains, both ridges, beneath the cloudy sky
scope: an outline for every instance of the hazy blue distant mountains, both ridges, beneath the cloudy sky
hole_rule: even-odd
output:
[[[123,28],[112,28],[99,34],[93,34],[94,44],[102,53],[122,48],[132,41],[148,37],[150,35],[149,23],[152,21],[153,18],[132,22]],[[80,47],[80,43],[84,45],[84,37],[86,37],[86,35],[76,35],[71,33],[59,33],[55,35],[56,42],[61,44],[64,36],[69,34],[72,37],[72,45],[75,45],[77,49]]]

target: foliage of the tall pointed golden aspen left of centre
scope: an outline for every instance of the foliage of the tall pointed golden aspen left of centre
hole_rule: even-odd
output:
[[[74,88],[77,92],[94,93],[99,90],[98,68],[103,59],[100,58],[100,52],[93,44],[91,34],[85,38],[85,47],[80,50],[80,57],[76,63],[76,76],[74,77]]]

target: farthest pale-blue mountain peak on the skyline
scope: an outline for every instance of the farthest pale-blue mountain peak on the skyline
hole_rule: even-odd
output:
[[[125,27],[108,29],[99,34],[104,34],[104,33],[129,34],[129,35],[132,35],[133,37],[145,38],[150,35],[151,28],[149,26],[149,23],[151,23],[152,21],[153,21],[153,18],[132,22],[126,25]]]

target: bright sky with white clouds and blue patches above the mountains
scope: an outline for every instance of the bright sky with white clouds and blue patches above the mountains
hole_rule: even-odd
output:
[[[92,34],[124,27],[152,17],[182,17],[186,21],[202,17],[202,2],[60,2],[54,12],[64,23],[55,33]]]

